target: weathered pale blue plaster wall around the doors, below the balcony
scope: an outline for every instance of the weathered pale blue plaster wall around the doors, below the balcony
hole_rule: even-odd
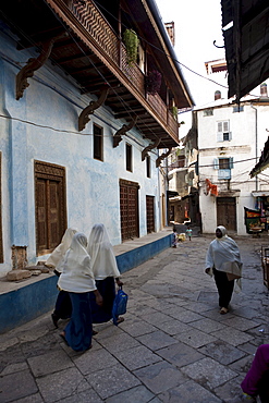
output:
[[[28,78],[23,98],[15,99],[15,76],[21,65],[37,53],[17,51],[15,42],[0,36],[2,152],[2,216],[4,264],[0,276],[10,269],[11,245],[27,245],[28,260],[35,264],[34,160],[62,166],[66,170],[68,225],[87,235],[103,222],[113,245],[121,243],[119,180],[138,182],[139,233],[147,233],[146,195],[155,196],[156,230],[160,229],[159,171],[157,150],[150,152],[151,178],[146,176],[142,150],[149,144],[133,130],[120,145],[112,147],[112,135],[124,121],[114,120],[110,110],[100,108],[78,133],[78,115],[91,100],[63,72],[48,62]],[[2,57],[1,57],[2,54]],[[3,57],[4,56],[4,57]],[[93,125],[103,127],[103,161],[93,158]],[[133,146],[133,172],[125,169],[125,143]],[[40,259],[44,259],[41,256]]]

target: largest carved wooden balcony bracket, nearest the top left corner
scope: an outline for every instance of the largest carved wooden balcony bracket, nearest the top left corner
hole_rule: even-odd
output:
[[[16,75],[16,100],[23,97],[24,89],[29,86],[27,78],[33,77],[34,72],[40,69],[50,57],[54,42],[68,34],[61,34],[41,45],[41,52],[37,58],[30,58],[26,65]]]

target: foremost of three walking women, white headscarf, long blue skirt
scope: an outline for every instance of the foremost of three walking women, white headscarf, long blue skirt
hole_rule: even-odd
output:
[[[63,272],[58,280],[59,289],[68,291],[72,303],[71,319],[61,337],[74,351],[85,351],[91,346],[93,321],[89,301],[91,292],[95,294],[96,303],[102,304],[86,247],[86,235],[81,232],[74,234],[64,257]]]

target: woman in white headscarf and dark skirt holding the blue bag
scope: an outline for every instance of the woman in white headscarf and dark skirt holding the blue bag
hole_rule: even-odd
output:
[[[103,323],[112,319],[115,282],[119,286],[123,284],[119,279],[121,274],[118,269],[113,247],[103,224],[95,224],[93,227],[87,251],[91,259],[96,286],[103,298],[103,305],[101,307],[96,304],[93,296],[90,298],[93,322]],[[123,320],[123,318],[119,317],[118,323]]]

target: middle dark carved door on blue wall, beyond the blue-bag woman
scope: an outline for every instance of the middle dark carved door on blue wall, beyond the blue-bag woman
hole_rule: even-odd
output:
[[[120,209],[122,242],[139,236],[138,229],[138,184],[120,181]]]

